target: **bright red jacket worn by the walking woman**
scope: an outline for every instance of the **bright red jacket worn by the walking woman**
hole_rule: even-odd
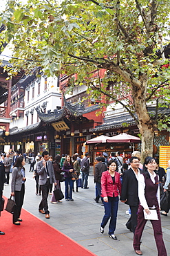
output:
[[[113,180],[109,171],[103,172],[101,178],[101,187],[102,187],[102,196],[114,197],[118,196],[118,192],[121,196],[121,182],[120,182],[120,174],[115,172],[115,183],[113,184]]]

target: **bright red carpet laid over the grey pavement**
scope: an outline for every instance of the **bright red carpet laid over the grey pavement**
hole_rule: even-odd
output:
[[[7,199],[6,199],[7,200]],[[5,203],[6,205],[6,203]],[[60,231],[22,209],[20,226],[12,224],[12,214],[3,210],[0,217],[0,255],[2,256],[92,256],[89,250]]]

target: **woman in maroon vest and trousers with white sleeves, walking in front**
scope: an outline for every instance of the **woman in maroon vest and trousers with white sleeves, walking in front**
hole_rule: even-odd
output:
[[[154,172],[156,169],[156,161],[153,157],[147,156],[143,165],[142,174],[138,178],[138,196],[140,205],[138,207],[138,225],[134,234],[134,250],[137,255],[142,255],[140,250],[142,232],[147,223],[144,217],[144,210],[147,214],[151,213],[151,209],[155,209],[158,214],[158,220],[151,220],[153,233],[156,240],[158,256],[167,256],[167,250],[162,239],[162,228],[160,221],[160,189],[159,178]]]

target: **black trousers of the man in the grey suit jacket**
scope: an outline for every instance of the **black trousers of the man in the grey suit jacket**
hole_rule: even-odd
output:
[[[39,210],[44,210],[45,214],[50,213],[48,210],[48,205],[47,205],[47,196],[50,190],[50,181],[47,179],[47,182],[45,185],[41,185],[41,191],[42,191],[42,200],[39,204]]]

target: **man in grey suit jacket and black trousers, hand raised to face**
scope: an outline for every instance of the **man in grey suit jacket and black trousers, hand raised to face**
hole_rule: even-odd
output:
[[[50,190],[50,184],[56,185],[52,161],[49,161],[49,153],[45,150],[42,154],[43,160],[36,164],[36,170],[39,174],[39,185],[41,185],[42,200],[39,204],[39,212],[45,214],[46,219],[50,219],[50,212],[47,205],[47,196]]]

